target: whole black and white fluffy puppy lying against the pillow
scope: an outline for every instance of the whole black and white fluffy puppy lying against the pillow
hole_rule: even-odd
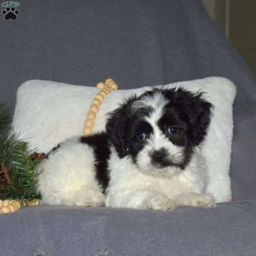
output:
[[[106,132],[59,144],[38,165],[44,204],[175,209],[213,207],[200,143],[212,105],[183,88],[132,96]]]

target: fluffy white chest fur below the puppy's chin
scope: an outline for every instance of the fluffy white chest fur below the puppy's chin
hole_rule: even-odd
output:
[[[106,191],[106,206],[143,208],[140,204],[145,197],[156,194],[163,194],[175,200],[180,195],[204,193],[208,175],[199,153],[197,148],[184,170],[170,167],[172,170],[165,172],[159,169],[157,175],[152,176],[140,172],[131,158],[119,159],[112,150],[109,160],[111,180]]]

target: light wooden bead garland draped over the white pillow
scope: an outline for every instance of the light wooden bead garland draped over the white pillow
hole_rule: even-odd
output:
[[[104,100],[105,96],[111,93],[113,90],[117,90],[118,86],[113,81],[113,79],[108,78],[105,80],[105,83],[99,82],[96,85],[97,88],[102,89],[93,99],[92,105],[90,106],[90,111],[87,113],[87,119],[84,122],[84,135],[91,135],[93,133],[93,125],[94,119],[96,118],[96,113],[99,111],[99,106],[101,105],[102,101]]]

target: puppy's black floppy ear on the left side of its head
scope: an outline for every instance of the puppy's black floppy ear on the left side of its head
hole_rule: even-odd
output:
[[[106,133],[110,137],[111,143],[115,147],[120,158],[128,154],[126,134],[131,118],[131,105],[137,96],[131,96],[114,111],[108,113],[106,122]]]

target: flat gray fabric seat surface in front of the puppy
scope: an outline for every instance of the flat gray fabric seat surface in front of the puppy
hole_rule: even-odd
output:
[[[0,215],[1,247],[10,256],[253,256],[255,212],[255,200],[173,212],[26,207]]]

